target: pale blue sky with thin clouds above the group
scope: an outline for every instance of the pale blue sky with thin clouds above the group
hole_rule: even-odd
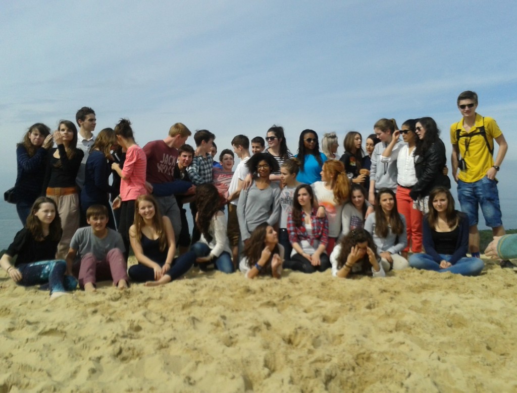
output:
[[[175,122],[209,129],[219,151],[279,124],[296,153],[303,129],[364,140],[384,117],[431,116],[449,145],[457,96],[474,90],[510,161],[515,15],[515,0],[4,2],[0,186],[31,124],[55,129],[82,106],[96,132],[130,119],[142,146]]]

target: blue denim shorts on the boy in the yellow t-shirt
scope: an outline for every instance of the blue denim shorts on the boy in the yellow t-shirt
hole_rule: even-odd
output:
[[[478,206],[481,206],[486,226],[495,228],[503,225],[499,192],[495,180],[490,180],[486,176],[474,183],[465,183],[459,180],[458,200],[460,201],[461,211],[468,216],[469,226],[478,223]]]

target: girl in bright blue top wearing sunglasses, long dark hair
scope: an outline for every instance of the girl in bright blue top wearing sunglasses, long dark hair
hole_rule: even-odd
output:
[[[298,154],[300,171],[296,179],[300,183],[312,184],[321,181],[321,171],[327,156],[320,152],[318,136],[312,129],[305,129],[300,134]]]

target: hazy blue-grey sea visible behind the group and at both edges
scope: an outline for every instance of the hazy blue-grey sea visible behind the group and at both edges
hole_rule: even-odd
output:
[[[514,192],[517,190],[517,170],[513,170],[513,168],[517,169],[517,161],[506,159],[497,176],[497,179],[499,180],[499,200],[501,211],[503,212],[503,225],[506,229],[517,229],[517,208],[515,203],[516,198],[514,195]],[[453,181],[451,181],[451,183],[451,192],[456,201],[456,207],[459,209],[460,205],[457,199],[456,185]],[[8,184],[10,183],[6,183],[4,181],[0,182],[0,184],[7,184],[3,189],[0,189],[3,194],[3,192],[9,188]],[[14,185],[14,179],[12,179],[12,185]],[[192,228],[190,210],[188,208],[187,217],[189,218],[189,227]],[[16,206],[4,202],[2,198],[0,201],[0,250],[6,249],[9,246],[14,235],[16,235],[21,228],[22,223],[16,213]],[[484,224],[484,218],[481,211],[479,211],[479,229],[490,229]]]

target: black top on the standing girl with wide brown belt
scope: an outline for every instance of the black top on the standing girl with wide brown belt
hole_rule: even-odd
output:
[[[45,173],[45,181],[43,182],[43,194],[47,192],[47,187],[75,187],[75,178],[81,166],[84,152],[80,149],[75,149],[75,154],[72,159],[68,159],[65,145],[59,144],[57,145],[57,149],[59,150],[59,157],[61,157],[61,165],[57,168],[54,166],[58,161],[58,159],[54,157],[54,152],[56,151],[54,148],[49,152],[49,163],[47,165],[47,172]]]

